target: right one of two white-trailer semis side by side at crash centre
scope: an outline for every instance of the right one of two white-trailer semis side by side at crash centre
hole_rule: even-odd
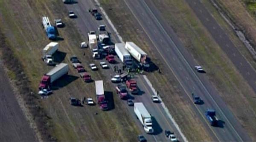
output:
[[[138,61],[140,67],[149,67],[149,58],[147,58],[147,53],[140,49],[140,47],[138,47],[134,42],[126,42],[125,49],[128,50],[128,52],[131,54],[132,57],[134,57],[136,61]]]

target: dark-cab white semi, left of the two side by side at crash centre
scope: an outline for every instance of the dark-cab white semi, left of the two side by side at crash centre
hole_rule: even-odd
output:
[[[115,52],[124,65],[131,67],[132,65],[131,55],[128,52],[128,50],[125,49],[125,43],[116,43]]]

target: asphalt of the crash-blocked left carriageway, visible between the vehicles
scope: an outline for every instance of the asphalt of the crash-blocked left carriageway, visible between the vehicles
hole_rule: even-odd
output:
[[[103,17],[103,20],[97,21],[91,14],[88,13],[89,8],[95,8],[95,3],[93,3],[90,0],[80,0],[76,4],[72,5],[66,5],[68,10],[73,10],[75,14],[77,15],[77,18],[74,19],[76,22],[76,26],[79,28],[79,31],[84,35],[84,37],[87,37],[88,31],[97,31],[99,25],[106,25],[107,31],[111,32],[111,40],[112,42],[116,43],[119,42],[118,38],[116,37],[113,29],[110,28],[109,23],[105,20],[105,17]],[[99,8],[98,8],[99,10]],[[90,53],[89,49],[85,49],[86,53]],[[116,58],[116,57],[115,57]],[[121,62],[118,58],[116,58],[117,61]],[[105,59],[104,59],[105,61]],[[96,64],[99,67],[99,61],[95,61]],[[107,62],[107,61],[106,61]],[[109,70],[102,70],[105,73],[105,75],[108,75],[108,81],[110,81],[110,77],[115,75],[116,73],[113,71],[113,66],[117,64],[108,64],[110,66]],[[118,64],[119,68],[121,68],[121,64]],[[110,76],[111,74],[111,76]],[[127,105],[128,110],[131,112],[131,115],[134,117],[134,121],[137,123],[138,128],[140,128],[141,133],[146,137],[148,141],[168,141],[166,138],[164,131],[165,130],[171,130],[174,131],[177,135],[178,139],[183,141],[182,137],[178,133],[177,129],[173,126],[171,120],[165,113],[163,107],[157,103],[153,103],[151,101],[151,96],[153,92],[151,91],[150,87],[145,83],[145,80],[140,76],[137,77],[136,80],[138,81],[138,87],[140,90],[142,90],[144,93],[142,95],[131,95],[131,98],[134,100],[134,102],[143,102],[145,107],[148,109],[149,113],[153,116],[153,128],[156,131],[154,134],[145,134],[145,131],[143,130],[142,125],[140,124],[139,120],[136,119],[134,114],[133,107],[130,107]],[[115,87],[117,84],[113,84],[113,87]],[[114,92],[113,95],[116,95]],[[120,101],[120,100],[115,100]],[[126,103],[125,100],[121,100],[124,103]],[[116,108],[118,109],[118,108]]]

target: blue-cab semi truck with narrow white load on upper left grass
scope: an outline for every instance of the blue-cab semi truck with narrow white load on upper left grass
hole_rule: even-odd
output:
[[[57,31],[55,30],[55,27],[51,25],[48,17],[44,16],[42,18],[42,25],[44,27],[47,37],[49,39],[56,39]]]

